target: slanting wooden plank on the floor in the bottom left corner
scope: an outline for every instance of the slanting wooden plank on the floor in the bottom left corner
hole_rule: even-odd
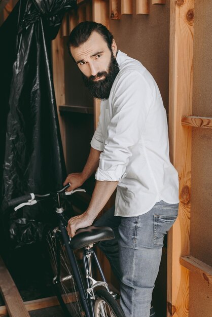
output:
[[[30,317],[26,310],[21,295],[15,283],[0,257],[0,291],[5,301],[10,317]]]

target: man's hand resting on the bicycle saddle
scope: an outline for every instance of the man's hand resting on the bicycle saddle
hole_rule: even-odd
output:
[[[73,237],[76,231],[80,228],[91,226],[95,218],[92,218],[85,211],[82,215],[72,217],[68,220],[67,232],[70,237]]]

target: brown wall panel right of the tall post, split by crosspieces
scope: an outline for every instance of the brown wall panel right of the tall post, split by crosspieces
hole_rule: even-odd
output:
[[[212,0],[195,1],[193,109],[212,117]],[[212,266],[212,129],[192,128],[190,253]],[[190,272],[189,316],[212,314],[211,281]]]

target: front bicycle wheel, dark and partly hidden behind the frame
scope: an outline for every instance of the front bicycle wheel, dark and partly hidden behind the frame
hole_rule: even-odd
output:
[[[58,236],[56,236],[55,231],[54,229],[47,233],[50,264],[54,279],[57,277],[56,283],[55,281],[53,283],[55,294],[67,317],[83,317],[85,316],[85,312],[81,304],[80,294],[78,293],[72,268],[61,240],[61,234],[57,230]],[[63,279],[67,276],[68,279],[64,281]]]

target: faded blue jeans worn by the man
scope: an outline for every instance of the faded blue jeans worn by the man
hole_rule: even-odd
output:
[[[94,223],[109,226],[115,233],[114,240],[100,242],[99,248],[120,280],[120,304],[125,316],[149,317],[163,238],[178,216],[178,204],[160,201],[136,217],[115,217],[114,210],[112,207]]]

